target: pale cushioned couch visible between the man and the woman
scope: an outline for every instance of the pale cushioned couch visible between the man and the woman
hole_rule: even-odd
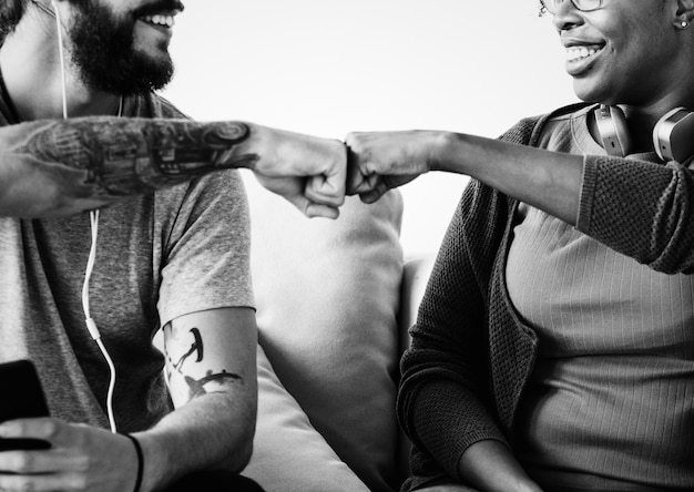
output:
[[[267,492],[391,492],[409,444],[395,399],[433,255],[407,257],[398,191],[307,219],[244,175],[259,341],[258,420],[244,474]]]

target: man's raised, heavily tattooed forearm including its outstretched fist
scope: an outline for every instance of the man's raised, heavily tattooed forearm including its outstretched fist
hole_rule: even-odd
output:
[[[308,216],[334,218],[344,202],[339,141],[241,122],[84,117],[0,129],[0,216],[71,215],[237,167]]]

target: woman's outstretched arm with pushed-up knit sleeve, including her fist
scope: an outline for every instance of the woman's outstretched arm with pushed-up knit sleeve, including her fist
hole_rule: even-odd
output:
[[[675,163],[549,152],[507,139],[350,134],[348,192],[372,202],[429,171],[466,174],[655,270],[694,271],[694,172]]]

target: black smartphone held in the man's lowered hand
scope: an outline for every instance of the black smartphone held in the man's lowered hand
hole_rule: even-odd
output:
[[[33,363],[30,360],[0,363],[0,422],[49,416],[43,388]],[[50,447],[51,443],[42,439],[0,438],[0,451]]]

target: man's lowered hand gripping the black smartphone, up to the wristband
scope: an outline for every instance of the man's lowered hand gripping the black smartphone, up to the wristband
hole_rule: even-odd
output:
[[[0,452],[0,490],[123,492],[133,490],[137,457],[125,437],[58,419],[0,424],[2,438],[34,438],[51,449]]]

